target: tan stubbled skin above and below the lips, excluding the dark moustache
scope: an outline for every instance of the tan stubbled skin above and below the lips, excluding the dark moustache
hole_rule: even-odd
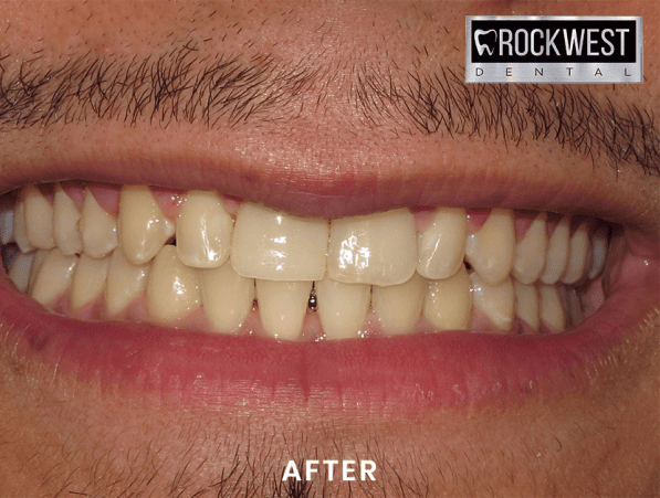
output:
[[[589,208],[609,221],[657,233],[658,178],[635,166],[622,167],[617,176],[609,167],[594,167],[589,155],[552,140],[525,139],[511,147],[493,137],[465,135],[401,133],[394,139],[395,131],[402,129],[396,119],[386,119],[381,127],[365,126],[364,116],[342,99],[343,71],[348,67],[343,63],[352,57],[374,62],[387,53],[401,67],[415,60],[422,68],[439,61],[461,64],[468,14],[636,14],[648,22],[647,83],[620,85],[616,94],[606,87],[597,92],[603,98],[612,96],[657,114],[659,40],[658,30],[649,28],[660,12],[654,2],[629,3],[360,2],[307,10],[255,1],[234,6],[222,21],[210,12],[229,7],[192,2],[12,3],[6,6],[0,21],[2,49],[20,54],[43,50],[40,64],[56,63],[66,53],[91,52],[96,57],[167,53],[178,46],[174,39],[189,38],[190,27],[200,54],[210,56],[217,44],[202,40],[217,36],[214,27],[224,29],[235,21],[242,29],[227,30],[230,34],[222,46],[228,52],[253,41],[249,53],[295,61],[311,47],[312,66],[336,70],[325,94],[331,104],[323,112],[310,110],[321,92],[313,88],[302,97],[307,105],[300,110],[259,126],[250,121],[230,126],[222,120],[219,128],[210,129],[197,120],[164,127],[144,118],[135,126],[121,119],[48,128],[6,126],[0,149],[8,152],[0,174],[17,174],[20,169],[24,182],[56,179],[67,162],[101,160],[111,150],[144,161],[146,172],[127,172],[128,178],[122,178],[126,183],[148,183],[158,161],[187,155],[207,168],[212,162],[209,157],[217,158],[219,169],[220,163],[252,168],[254,176],[266,180],[275,172],[281,178],[285,168],[305,170],[311,183],[373,168],[385,184],[396,186],[405,182],[407,172],[422,170],[419,165],[430,156],[457,182],[488,174],[499,190],[506,191],[545,178],[548,189],[562,192],[554,201],[556,211]],[[46,22],[50,19],[57,22]],[[401,22],[407,28],[399,30]],[[325,30],[317,30],[318,25]],[[332,50],[321,51],[322,43]],[[433,55],[419,57],[413,45],[427,46]],[[3,64],[9,72],[15,70],[15,61]],[[203,174],[195,165],[181,168],[170,187],[203,186]],[[243,179],[250,182],[251,178]],[[218,190],[234,193],[229,184],[222,190],[217,177],[212,180]],[[300,214],[322,214],[310,213],[314,199],[298,208],[293,202],[287,205],[286,186],[274,184],[266,195],[264,184],[265,180],[255,181],[254,190],[270,203]],[[359,183],[353,187],[346,209],[367,211],[359,204]],[[594,189],[607,201],[579,206],[588,201],[573,193],[578,187]],[[400,195],[406,203],[406,195]],[[455,205],[497,202],[485,189],[460,190],[451,199],[446,192],[444,199]],[[538,208],[531,200],[510,206]],[[530,393],[501,403],[394,414],[316,405],[292,411],[279,403],[265,410],[182,406],[138,388],[99,385],[53,373],[46,365],[18,358],[4,345],[0,352],[0,496],[306,496],[281,483],[281,475],[287,460],[310,458],[371,459],[379,474],[375,483],[350,484],[326,481],[322,474],[305,485],[308,496],[652,496],[660,491],[657,307],[629,324],[629,329],[635,340],[611,351],[603,368],[577,378],[580,389],[575,392],[551,398]]]

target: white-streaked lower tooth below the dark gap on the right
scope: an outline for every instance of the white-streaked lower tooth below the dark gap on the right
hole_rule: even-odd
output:
[[[489,285],[476,272],[470,274],[474,307],[483,311],[497,329],[509,331],[513,327],[515,294],[511,278],[497,285]]]

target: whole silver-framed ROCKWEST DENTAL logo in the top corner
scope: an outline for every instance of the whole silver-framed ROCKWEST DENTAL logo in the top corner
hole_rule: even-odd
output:
[[[465,18],[465,83],[641,83],[640,17]]]

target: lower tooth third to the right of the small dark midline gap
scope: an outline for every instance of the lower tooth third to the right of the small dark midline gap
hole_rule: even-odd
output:
[[[465,266],[449,278],[429,282],[423,315],[438,330],[465,330],[471,312],[472,293]]]

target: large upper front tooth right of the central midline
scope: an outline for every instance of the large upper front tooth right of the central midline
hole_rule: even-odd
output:
[[[345,284],[397,285],[417,267],[415,218],[407,209],[331,222],[327,272]]]

